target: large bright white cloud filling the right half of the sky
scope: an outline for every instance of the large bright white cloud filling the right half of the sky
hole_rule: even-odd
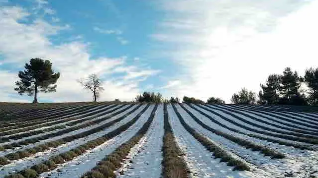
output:
[[[170,45],[184,95],[221,97],[246,87],[258,92],[271,73],[287,66],[317,67],[317,0],[162,0],[169,18],[152,37]]]

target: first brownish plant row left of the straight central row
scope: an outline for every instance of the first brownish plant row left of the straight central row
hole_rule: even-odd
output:
[[[138,130],[138,132],[131,137],[128,141],[121,144],[115,151],[111,152],[104,159],[97,163],[91,171],[85,173],[81,178],[115,178],[114,171],[119,169],[124,162],[126,156],[133,146],[135,146],[139,140],[148,131],[157,110],[158,105],[156,104],[153,108],[150,117]]]

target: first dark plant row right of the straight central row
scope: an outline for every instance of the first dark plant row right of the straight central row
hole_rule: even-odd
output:
[[[250,168],[244,162],[234,158],[231,154],[225,151],[222,147],[216,145],[212,141],[210,141],[207,137],[203,136],[199,132],[197,132],[194,128],[192,128],[186,121],[182,118],[177,108],[172,105],[174,112],[177,114],[181,124],[184,128],[195,138],[197,139],[207,150],[212,152],[212,156],[214,159],[220,158],[220,162],[226,162],[227,166],[233,167],[233,171],[249,171]]]

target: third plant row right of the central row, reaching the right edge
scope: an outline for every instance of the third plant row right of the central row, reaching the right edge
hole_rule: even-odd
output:
[[[252,133],[245,133],[245,132],[242,132],[240,130],[237,130],[235,128],[232,128],[232,127],[229,127],[217,120],[215,120],[213,117],[207,115],[206,113],[198,110],[197,108],[189,105],[192,109],[194,109],[195,111],[199,112],[200,114],[204,115],[205,117],[207,117],[208,119],[210,119],[212,122],[230,130],[230,131],[233,131],[233,132],[237,132],[237,133],[240,133],[240,134],[244,134],[244,135],[248,135],[250,137],[254,137],[254,138],[258,138],[258,139],[261,139],[261,140],[266,140],[266,141],[270,141],[270,142],[273,142],[273,143],[278,143],[280,145],[286,145],[286,146],[293,146],[295,148],[298,148],[298,149],[302,149],[302,150],[312,150],[312,151],[315,151],[316,149],[314,147],[311,147],[311,146],[308,146],[308,145],[304,145],[304,144],[298,144],[298,143],[292,143],[292,142],[287,142],[287,141],[282,141],[282,140],[277,140],[277,139],[274,139],[274,138],[270,138],[270,137],[265,137],[265,136],[260,136],[260,135],[256,135],[256,134],[252,134]],[[229,121],[230,119],[227,119],[225,118],[224,116],[218,114],[218,113],[215,113],[216,116],[224,119],[224,120],[227,120]]]

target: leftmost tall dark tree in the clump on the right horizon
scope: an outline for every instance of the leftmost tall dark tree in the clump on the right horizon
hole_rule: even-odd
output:
[[[277,104],[279,100],[279,88],[281,77],[277,74],[271,74],[268,76],[266,84],[261,84],[259,96],[259,102],[263,104]]]

